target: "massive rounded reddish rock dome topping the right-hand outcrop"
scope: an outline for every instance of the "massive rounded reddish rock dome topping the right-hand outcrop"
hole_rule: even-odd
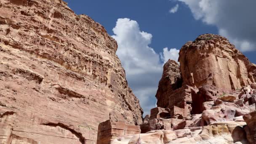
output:
[[[219,35],[200,35],[179,53],[183,85],[215,85],[235,90],[256,81],[256,65]]]

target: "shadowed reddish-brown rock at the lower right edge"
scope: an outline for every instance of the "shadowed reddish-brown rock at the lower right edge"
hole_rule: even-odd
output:
[[[243,115],[243,119],[248,125],[246,131],[248,141],[250,141],[250,144],[256,144],[256,111]]]

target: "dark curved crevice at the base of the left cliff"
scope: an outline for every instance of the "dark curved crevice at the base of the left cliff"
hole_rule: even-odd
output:
[[[74,134],[79,139],[81,144],[85,144],[86,139],[85,139],[85,137],[83,137],[82,133],[79,133],[79,132],[75,131],[74,129],[69,128],[69,126],[64,125],[63,123],[41,123],[40,125],[47,125],[47,126],[51,126],[51,127],[59,126],[67,131],[70,131],[72,134]]]

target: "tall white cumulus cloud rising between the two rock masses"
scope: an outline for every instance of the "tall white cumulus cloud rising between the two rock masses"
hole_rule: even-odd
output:
[[[172,49],[164,48],[160,59],[160,54],[149,47],[152,35],[141,31],[139,24],[131,19],[118,19],[113,32],[115,35],[112,37],[118,44],[117,56],[125,69],[128,84],[139,98],[144,115],[147,115],[155,107],[163,61],[168,58],[177,60],[179,50],[172,53]]]

